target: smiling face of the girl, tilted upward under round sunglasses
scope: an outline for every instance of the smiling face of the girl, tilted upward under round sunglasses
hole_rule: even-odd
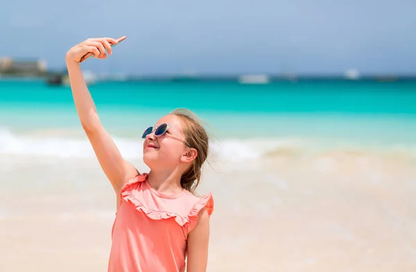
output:
[[[166,132],[155,136],[156,129],[168,124]],[[153,131],[146,135],[143,143],[143,160],[151,170],[175,169],[182,162],[187,162],[189,148],[182,133],[182,124],[175,115],[166,115],[157,121]]]

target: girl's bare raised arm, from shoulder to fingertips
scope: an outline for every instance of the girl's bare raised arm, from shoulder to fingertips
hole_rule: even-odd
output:
[[[117,148],[112,137],[103,128],[98,117],[96,106],[80,69],[80,59],[87,53],[94,53],[95,58],[107,58],[107,53],[112,54],[111,44],[116,44],[112,38],[88,39],[67,52],[65,60],[71,83],[73,101],[76,105],[78,117],[85,133],[92,144],[92,148],[98,158],[105,175],[110,180],[117,198],[125,182],[137,176],[135,167],[125,161],[119,148]],[[105,52],[107,50],[107,53]],[[119,199],[117,199],[119,203]]]

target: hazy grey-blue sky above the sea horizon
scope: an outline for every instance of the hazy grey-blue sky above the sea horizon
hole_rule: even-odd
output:
[[[85,69],[129,74],[416,74],[415,0],[5,1],[0,57],[127,36]]]

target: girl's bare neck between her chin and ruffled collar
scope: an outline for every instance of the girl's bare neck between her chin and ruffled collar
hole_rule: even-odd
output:
[[[180,178],[182,174],[174,171],[150,171],[148,182],[153,189],[162,194],[180,194],[182,186]]]

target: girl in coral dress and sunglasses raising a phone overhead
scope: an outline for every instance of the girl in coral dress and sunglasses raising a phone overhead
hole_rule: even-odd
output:
[[[80,58],[112,55],[112,38],[88,39],[66,55],[73,100],[98,162],[116,193],[116,219],[108,271],[206,271],[211,194],[193,195],[208,155],[208,136],[194,114],[175,110],[144,130],[139,173],[123,160],[103,128],[80,69]],[[107,53],[106,51],[107,50]],[[144,99],[155,99],[148,94]]]

